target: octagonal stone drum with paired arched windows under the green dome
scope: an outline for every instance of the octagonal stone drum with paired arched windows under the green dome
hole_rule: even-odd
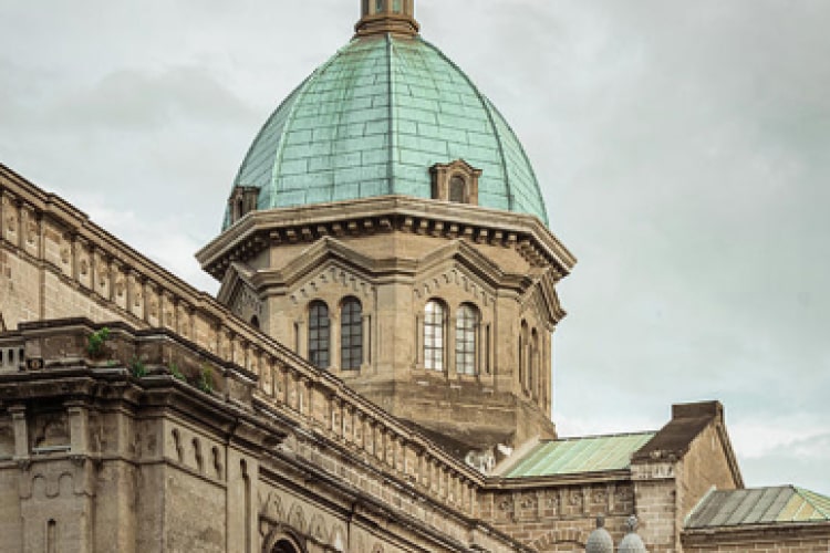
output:
[[[574,258],[531,216],[384,196],[251,212],[197,257],[222,281],[218,300],[298,355],[311,309],[330,326],[324,367],[393,415],[458,448],[516,447],[556,436],[550,420],[556,292]],[[361,305],[362,363],[341,363],[341,312]],[[444,347],[425,358],[438,303]],[[460,366],[461,310],[475,313]],[[313,361],[313,359],[312,359]]]

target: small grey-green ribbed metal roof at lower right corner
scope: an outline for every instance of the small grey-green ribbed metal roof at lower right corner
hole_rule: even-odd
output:
[[[709,492],[686,519],[687,529],[830,521],[830,498],[784,486]]]

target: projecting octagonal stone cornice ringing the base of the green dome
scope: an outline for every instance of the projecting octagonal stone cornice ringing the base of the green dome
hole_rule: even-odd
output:
[[[552,267],[559,278],[568,275],[577,262],[533,216],[408,196],[253,211],[199,250],[196,258],[206,271],[221,279],[232,261],[249,259],[270,244],[391,231],[515,248],[532,265]]]

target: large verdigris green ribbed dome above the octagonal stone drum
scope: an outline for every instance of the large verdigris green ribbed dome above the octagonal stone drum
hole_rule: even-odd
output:
[[[547,225],[521,144],[470,80],[419,36],[364,36],[286,98],[253,140],[234,186],[259,188],[259,209],[385,195],[430,198],[429,167],[456,159],[483,170],[480,206],[530,213]]]

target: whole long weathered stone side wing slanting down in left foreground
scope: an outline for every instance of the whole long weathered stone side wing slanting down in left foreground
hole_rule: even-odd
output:
[[[0,344],[0,479],[20,489],[3,495],[0,551],[44,551],[50,536],[79,552],[522,549],[473,522],[478,471],[59,198],[6,168],[0,179],[3,220],[38,221],[33,240],[50,231],[37,247],[0,242],[13,331]],[[62,249],[65,261],[49,254]],[[87,319],[40,322],[72,315]],[[85,345],[103,322],[96,364]],[[24,371],[32,359],[45,368]],[[136,382],[137,366],[151,376]],[[194,385],[207,372],[212,393],[174,372]],[[377,519],[355,525],[365,517]]]

